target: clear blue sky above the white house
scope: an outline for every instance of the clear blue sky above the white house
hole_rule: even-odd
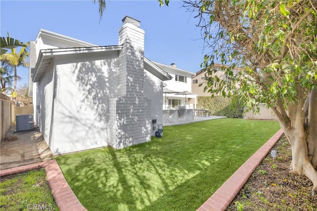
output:
[[[176,0],[168,7],[159,7],[157,0],[109,0],[99,22],[98,5],[92,0],[0,0],[0,36],[9,32],[28,42],[42,28],[96,45],[117,45],[122,18],[128,15],[145,30],[146,57],[197,72],[204,55],[198,20],[181,6]],[[28,83],[28,69],[18,69],[18,75],[18,87]]]

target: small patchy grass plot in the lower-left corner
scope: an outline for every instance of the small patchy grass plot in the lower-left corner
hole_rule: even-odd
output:
[[[58,210],[45,169],[1,177],[1,211]]]

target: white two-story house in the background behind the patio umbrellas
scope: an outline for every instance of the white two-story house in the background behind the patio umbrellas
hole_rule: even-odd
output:
[[[164,89],[166,88],[177,92],[192,92],[191,78],[195,75],[194,73],[176,68],[175,63],[171,63],[170,66],[155,61],[153,61],[153,63],[173,77],[172,80],[164,82],[166,84]],[[166,94],[166,105],[165,94],[163,95],[163,109],[165,109],[165,107],[185,106],[185,103],[187,108],[196,108],[196,95],[186,95],[185,98],[185,95]]]

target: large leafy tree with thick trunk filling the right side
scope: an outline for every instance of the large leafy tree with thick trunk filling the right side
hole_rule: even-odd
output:
[[[291,172],[317,192],[317,1],[185,0],[201,27],[205,90],[234,96],[249,109],[265,103],[292,146]],[[223,64],[230,80],[217,77]],[[240,71],[234,71],[240,67]]]

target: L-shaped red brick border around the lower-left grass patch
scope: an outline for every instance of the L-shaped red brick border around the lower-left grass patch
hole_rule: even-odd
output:
[[[30,165],[0,170],[0,176],[6,176],[43,167],[45,168],[48,182],[50,184],[53,197],[59,210],[87,211],[69,187],[62,171],[60,170],[56,160],[54,159]]]

